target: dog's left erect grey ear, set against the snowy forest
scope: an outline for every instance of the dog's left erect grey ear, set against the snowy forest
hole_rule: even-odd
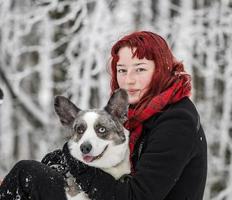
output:
[[[78,112],[80,111],[69,99],[64,96],[56,96],[54,107],[57,115],[60,118],[62,125],[72,126]]]

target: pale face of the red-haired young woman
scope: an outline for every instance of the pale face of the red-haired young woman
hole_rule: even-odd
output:
[[[122,47],[118,52],[119,60],[116,66],[118,85],[127,91],[130,104],[138,103],[148,91],[155,71],[153,60],[132,58],[134,50]]]

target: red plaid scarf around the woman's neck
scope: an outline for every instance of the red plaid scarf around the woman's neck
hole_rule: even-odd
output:
[[[142,112],[138,113],[134,109],[129,109],[128,121],[125,123],[125,127],[130,131],[130,159],[134,151],[135,143],[142,134],[143,122],[162,111],[166,105],[176,103],[182,98],[189,96],[190,90],[191,85],[189,80],[177,79],[170,88],[162,92],[160,95],[155,96]],[[133,173],[134,168],[132,162],[131,170]]]

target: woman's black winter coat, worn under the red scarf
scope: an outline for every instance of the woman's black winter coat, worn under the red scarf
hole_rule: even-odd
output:
[[[207,144],[189,98],[144,122],[132,160],[135,175],[126,182],[93,168],[76,178],[95,200],[203,199]]]

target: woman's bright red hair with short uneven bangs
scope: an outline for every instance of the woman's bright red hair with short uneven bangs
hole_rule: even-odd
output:
[[[184,66],[178,62],[168,47],[167,42],[158,34],[141,31],[126,35],[117,41],[111,49],[111,91],[119,88],[117,82],[118,51],[122,47],[133,49],[133,57],[153,60],[155,71],[146,94],[141,98],[136,107],[142,110],[148,102],[161,92],[169,88],[175,80],[182,76],[186,81],[190,76],[184,72]],[[178,74],[179,76],[176,76]]]

